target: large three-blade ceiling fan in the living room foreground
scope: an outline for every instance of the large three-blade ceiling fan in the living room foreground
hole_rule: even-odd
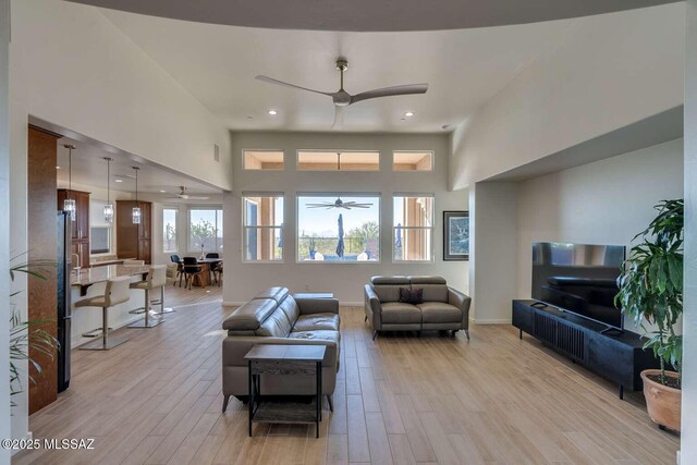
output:
[[[331,125],[332,127],[341,126],[343,124],[343,108],[353,103],[357,103],[363,100],[368,100],[370,98],[380,98],[380,97],[393,97],[400,95],[413,95],[413,94],[426,94],[428,90],[428,84],[406,84],[402,86],[393,86],[393,87],[382,87],[379,89],[367,90],[360,94],[351,95],[346,90],[344,90],[344,71],[348,69],[348,61],[343,58],[339,58],[337,60],[337,70],[341,72],[341,81],[339,83],[339,90],[335,93],[326,93],[321,90],[308,89],[307,87],[296,86],[295,84],[284,83],[283,81],[274,79],[273,77],[259,75],[256,76],[257,79],[264,81],[269,84],[277,84],[280,86],[292,87],[301,90],[307,90],[315,94],[326,95],[331,97],[334,102],[334,123]]]

